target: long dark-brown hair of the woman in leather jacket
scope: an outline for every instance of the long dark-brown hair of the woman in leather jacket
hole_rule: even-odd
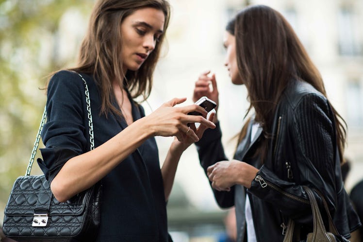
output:
[[[226,30],[236,37],[237,65],[250,101],[246,116],[254,108],[255,121],[264,130],[260,149],[264,159],[267,141],[272,137],[268,132],[274,112],[288,83],[301,79],[326,97],[324,83],[293,28],[278,11],[264,5],[249,6],[231,20]],[[333,107],[332,110],[342,162],[346,123]],[[243,137],[242,132],[239,137]]]

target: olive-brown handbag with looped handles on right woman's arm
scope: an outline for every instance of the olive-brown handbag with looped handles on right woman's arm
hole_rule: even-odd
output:
[[[331,218],[329,207],[327,202],[325,201],[325,198],[323,194],[321,194],[320,191],[315,190],[320,198],[323,201],[324,208],[326,210],[326,213],[328,215],[329,219],[329,230],[327,231],[325,229],[325,225],[323,222],[323,219],[320,214],[320,210],[318,207],[318,204],[316,202],[316,198],[314,196],[313,190],[311,190],[309,187],[303,186],[304,190],[309,196],[310,205],[312,207],[313,211],[313,232],[309,233],[306,240],[299,240],[297,238],[294,238],[294,236],[298,233],[298,231],[294,231],[295,229],[295,222],[290,219],[289,223],[287,224],[287,230],[284,237],[283,242],[293,242],[293,241],[300,241],[300,242],[349,242],[346,238],[344,238],[342,235],[338,233],[338,230],[336,229],[335,225],[333,224],[333,220]],[[295,229],[296,230],[296,229]]]

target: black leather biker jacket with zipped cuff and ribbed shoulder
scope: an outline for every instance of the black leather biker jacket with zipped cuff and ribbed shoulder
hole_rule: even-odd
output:
[[[230,192],[213,190],[220,207],[236,207],[238,241],[243,241],[246,231],[246,194],[258,242],[282,242],[289,218],[301,227],[303,236],[311,232],[312,212],[303,185],[324,194],[335,226],[350,238],[350,232],[361,223],[343,186],[334,116],[327,99],[306,82],[294,80],[289,84],[275,111],[270,131],[273,138],[269,139],[264,164],[254,156],[262,129],[251,140],[252,122],[234,155],[234,159],[260,169],[251,188],[235,185]],[[217,125],[196,143],[205,172],[217,161],[227,160],[221,136]]]

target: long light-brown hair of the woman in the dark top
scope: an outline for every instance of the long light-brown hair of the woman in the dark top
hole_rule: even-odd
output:
[[[122,36],[120,27],[123,19],[140,8],[160,9],[165,16],[164,34],[160,36],[155,49],[136,71],[128,70],[123,75],[120,53]],[[122,115],[112,105],[114,97],[112,81],[117,80],[121,88],[126,88],[132,98],[140,95],[146,100],[152,86],[152,74],[160,55],[169,24],[170,5],[167,0],[99,0],[95,4],[89,19],[88,31],[82,41],[77,67],[71,70],[92,74],[99,86],[102,99],[101,113],[109,111]]]

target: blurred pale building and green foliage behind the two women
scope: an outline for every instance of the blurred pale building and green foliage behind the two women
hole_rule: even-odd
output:
[[[216,74],[218,118],[230,158],[232,138],[248,103],[224,68],[222,36],[227,21],[249,4],[266,4],[291,23],[321,71],[328,97],[347,121],[351,162],[347,191],[363,178],[363,0],[170,0],[172,16],[164,55],[154,74],[146,113],[174,97],[191,104],[204,70]],[[25,173],[46,103],[50,72],[72,67],[94,0],[0,0],[0,221],[16,177]],[[161,163],[172,138],[156,138]],[[41,171],[34,164],[32,174]],[[228,213],[216,206],[191,146],[181,157],[168,203],[175,242],[217,242]]]

